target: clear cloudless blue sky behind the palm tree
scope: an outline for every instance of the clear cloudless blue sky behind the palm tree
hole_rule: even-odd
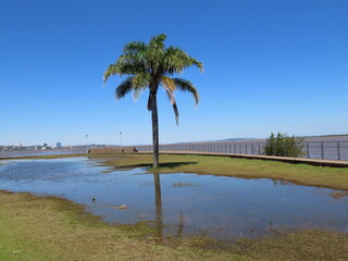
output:
[[[0,145],[150,144],[147,94],[102,86],[125,44],[164,33],[204,64],[160,142],[348,133],[347,0],[1,0]]]

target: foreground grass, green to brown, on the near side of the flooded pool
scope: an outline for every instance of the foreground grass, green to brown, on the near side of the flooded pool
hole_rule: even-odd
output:
[[[111,226],[54,197],[0,191],[0,260],[347,260],[348,235],[277,233],[223,245],[203,238],[156,244],[151,229]],[[151,239],[150,239],[151,238]]]

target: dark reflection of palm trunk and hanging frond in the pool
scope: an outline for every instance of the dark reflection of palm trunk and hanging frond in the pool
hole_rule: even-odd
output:
[[[154,182],[154,198],[156,198],[156,227],[157,227],[157,236],[158,243],[163,243],[163,213],[162,213],[162,195],[161,195],[161,181],[160,174],[153,174]],[[177,227],[177,237],[182,237],[184,232],[184,214],[181,212],[179,214],[179,223]]]

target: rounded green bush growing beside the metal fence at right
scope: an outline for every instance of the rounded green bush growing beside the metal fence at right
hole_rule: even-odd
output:
[[[281,157],[301,157],[303,151],[303,138],[289,137],[286,134],[278,133],[275,137],[271,133],[264,146],[264,153],[266,156],[281,156]]]

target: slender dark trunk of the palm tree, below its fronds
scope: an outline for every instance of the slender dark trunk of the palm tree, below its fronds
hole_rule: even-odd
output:
[[[151,92],[151,115],[152,115],[152,144],[153,144],[153,167],[160,164],[159,156],[159,115],[157,111],[157,94]]]

